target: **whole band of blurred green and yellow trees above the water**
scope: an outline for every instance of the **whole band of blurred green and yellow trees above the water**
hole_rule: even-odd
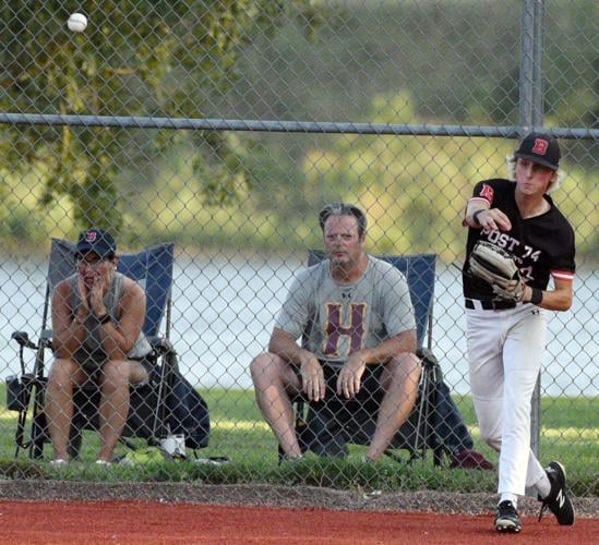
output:
[[[0,8],[0,108],[98,116],[518,124],[522,2],[64,0]],[[328,7],[324,11],[323,4]],[[546,2],[548,126],[597,123],[594,0]],[[318,28],[314,35],[313,31]],[[576,39],[573,39],[576,37]],[[595,87],[594,87],[595,85]],[[303,247],[325,202],[368,208],[373,250],[463,251],[475,181],[513,142],[26,126],[0,133],[0,234],[97,223],[183,245]],[[597,255],[597,144],[566,141],[556,194]],[[21,177],[26,187],[17,182]],[[41,204],[47,218],[31,211]],[[28,207],[28,208],[27,208]],[[71,216],[74,215],[74,218]],[[69,216],[69,222],[64,220]],[[68,225],[67,225],[68,223]]]

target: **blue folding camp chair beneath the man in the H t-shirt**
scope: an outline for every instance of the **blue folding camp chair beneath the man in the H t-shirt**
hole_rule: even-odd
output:
[[[434,292],[434,266],[435,254],[418,254],[406,256],[384,255],[381,256],[406,277],[410,290],[410,298],[415,307],[417,328],[417,354],[422,360],[422,374],[419,384],[418,399],[410,417],[399,428],[396,437],[385,452],[391,458],[399,461],[398,449],[407,449],[409,460],[426,458],[427,449],[432,449],[435,465],[441,464],[443,447],[436,439],[433,426],[434,408],[436,403],[435,385],[442,380],[439,363],[431,352],[432,346],[432,306]],[[324,258],[324,252],[311,251],[308,265],[314,265]],[[424,337],[427,337],[424,347]],[[302,451],[312,450],[318,441],[318,432],[322,432],[323,425],[332,423],[331,415],[319,414],[322,409],[316,409],[314,403],[306,398],[299,397],[293,400],[296,412],[296,433]],[[321,404],[322,405],[322,404]],[[376,407],[373,411],[376,411]],[[344,435],[343,423],[334,422],[337,433]],[[322,435],[321,435],[322,436]],[[346,452],[345,441],[357,443],[354,439],[342,437],[338,447],[338,455]],[[362,437],[359,444],[366,444]],[[335,447],[335,448],[336,448]],[[279,453],[281,453],[279,448]],[[333,455],[334,456],[334,455]]]

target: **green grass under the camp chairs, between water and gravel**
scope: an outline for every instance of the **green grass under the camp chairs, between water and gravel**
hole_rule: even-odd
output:
[[[211,408],[212,435],[202,458],[226,456],[224,465],[199,464],[193,458],[184,462],[163,462],[143,467],[112,467],[109,471],[91,463],[98,447],[97,435],[85,433],[81,462],[60,470],[47,461],[31,461],[21,455],[14,459],[16,413],[0,409],[0,472],[16,479],[60,479],[79,481],[143,481],[204,483],[272,483],[304,484],[349,489],[444,489],[455,492],[494,492],[495,472],[479,472],[435,468],[432,457],[397,463],[388,458],[375,464],[361,461],[363,447],[351,447],[346,460],[308,456],[296,464],[277,463],[277,445],[255,404],[253,392],[213,388],[202,390]],[[4,399],[3,386],[0,399]],[[456,396],[455,401],[472,431],[476,448],[496,462],[496,453],[478,438],[478,428],[469,397]],[[541,460],[561,460],[568,471],[568,484],[575,495],[598,496],[599,432],[592,427],[599,413],[599,401],[588,398],[546,398],[541,402]],[[140,443],[143,445],[143,443]],[[46,447],[49,457],[51,449]],[[119,447],[117,455],[125,453]],[[406,457],[407,458],[407,457]]]

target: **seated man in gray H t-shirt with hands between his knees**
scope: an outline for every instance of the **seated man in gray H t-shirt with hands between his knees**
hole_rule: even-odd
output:
[[[361,396],[375,371],[376,425],[368,460],[385,452],[416,402],[420,360],[406,279],[393,265],[364,252],[367,220],[352,205],[320,213],[327,258],[301,271],[276,319],[268,352],[251,363],[257,404],[286,458],[302,456],[291,399],[311,402]],[[307,332],[306,348],[297,343]]]

